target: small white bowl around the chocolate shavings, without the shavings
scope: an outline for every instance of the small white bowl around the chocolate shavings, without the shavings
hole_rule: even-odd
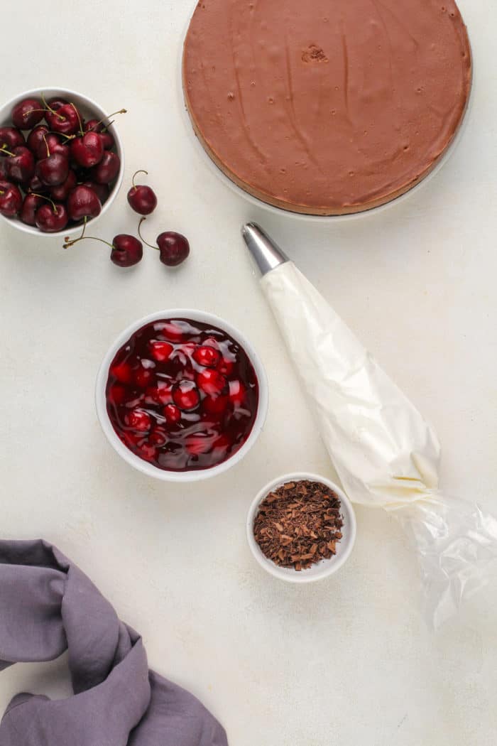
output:
[[[331,557],[329,560],[321,560],[320,562],[317,562],[316,565],[312,565],[312,567],[308,568],[308,570],[297,572],[293,568],[279,567],[278,565],[275,565],[272,560],[265,557],[265,554],[262,554],[261,548],[259,548],[253,535],[253,524],[256,515],[259,512],[259,505],[270,492],[273,492],[273,490],[278,489],[287,482],[298,482],[301,480],[309,480],[311,482],[325,484],[329,489],[332,489],[336,495],[338,495],[341,499],[341,513],[344,518],[344,527],[342,529],[343,538],[337,544],[337,554],[335,554],[335,557]],[[306,471],[284,474],[282,477],[277,477],[267,484],[262,488],[259,495],[257,495],[256,499],[253,501],[247,515],[247,539],[253,556],[265,571],[270,575],[277,577],[279,580],[285,580],[286,583],[314,583],[316,580],[323,580],[323,578],[334,574],[349,559],[352,549],[354,548],[356,532],[357,525],[355,522],[354,508],[343,490],[329,479],[326,479],[326,477],[320,477],[317,474],[308,474]]]

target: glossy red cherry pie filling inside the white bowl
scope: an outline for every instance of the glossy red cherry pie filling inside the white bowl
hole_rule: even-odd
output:
[[[136,331],[115,355],[106,397],[130,451],[165,471],[196,471],[223,463],[247,441],[259,383],[247,353],[226,332],[163,319]]]

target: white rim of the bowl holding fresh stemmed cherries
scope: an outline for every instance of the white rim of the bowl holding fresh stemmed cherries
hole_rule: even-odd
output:
[[[89,109],[95,109],[96,113],[101,113],[104,115],[103,119],[107,117],[107,112],[101,107],[100,104],[98,104],[96,101],[94,101],[92,98],[89,98],[87,95],[83,93],[79,93],[78,91],[72,90],[71,88],[66,87],[54,87],[54,86],[42,86],[40,88],[33,88],[31,90],[24,91],[23,93],[19,93],[13,98],[10,98],[9,101],[6,101],[4,104],[0,107],[0,127],[3,127],[3,119],[4,119],[4,113],[5,111],[10,111],[12,107],[18,103],[18,101],[22,101],[23,98],[28,98],[31,96],[37,97],[40,96],[42,93],[48,93],[50,97],[52,96],[52,92],[57,95],[57,92],[60,93],[60,95],[63,95],[64,98],[67,98],[68,96],[72,96],[74,98],[80,98],[81,101],[84,101],[84,104]],[[95,225],[95,222],[105,213],[107,213],[107,210],[110,209],[111,205],[115,201],[115,198],[117,197],[122,182],[124,179],[124,149],[122,145],[121,137],[118,133],[117,128],[115,127],[115,124],[112,125],[112,134],[115,140],[115,149],[118,153],[119,159],[121,160],[121,167],[118,172],[117,179],[115,180],[113,184],[113,188],[110,192],[109,197],[107,198],[107,201],[102,205],[101,213],[96,216],[96,218],[92,218],[91,221],[88,222],[88,225],[91,223],[92,225]],[[0,214],[0,218],[4,220],[8,225],[11,225],[15,230],[22,231],[23,233],[30,233],[31,236],[37,236],[37,238],[46,239],[46,238],[60,238],[60,236],[75,236],[77,233],[81,232],[82,227],[80,225],[75,225],[72,228],[64,228],[63,231],[55,231],[54,233],[44,233],[43,231],[39,231],[38,228],[35,228],[33,225],[25,225],[22,221],[20,221],[18,218],[6,218],[4,215]]]

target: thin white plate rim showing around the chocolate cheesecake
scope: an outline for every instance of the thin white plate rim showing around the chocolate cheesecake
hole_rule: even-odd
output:
[[[411,186],[406,192],[403,192],[398,197],[390,199],[390,201],[384,202],[384,204],[379,204],[376,207],[370,207],[367,210],[360,210],[358,213],[346,213],[345,215],[311,215],[310,213],[295,213],[292,210],[285,210],[284,207],[276,207],[276,205],[270,204],[270,202],[265,202],[264,200],[250,194],[250,192],[246,192],[244,189],[241,188],[241,186],[235,184],[235,182],[232,181],[232,179],[230,179],[229,176],[224,173],[224,171],[221,171],[219,166],[217,166],[215,161],[212,160],[212,157],[210,157],[209,153],[206,151],[206,148],[203,147],[203,144],[202,142],[200,142],[200,139],[195,134],[193,125],[191,123],[188,108],[186,106],[185,95],[183,92],[183,52],[186,42],[186,36],[189,32],[191,19],[196,7],[197,3],[195,3],[194,6],[191,8],[191,13],[186,22],[186,28],[183,32],[182,43],[180,44],[179,61],[177,62],[177,95],[180,100],[181,118],[183,119],[183,125],[186,129],[186,132],[189,134],[191,147],[194,149],[194,151],[197,152],[199,160],[204,164],[206,169],[214,174],[216,178],[218,178],[225,186],[228,187],[228,189],[237,194],[239,197],[244,198],[245,201],[250,202],[253,207],[258,207],[259,209],[265,210],[268,213],[272,213],[274,216],[288,217],[289,219],[294,219],[300,222],[315,223],[316,225],[336,225],[339,222],[350,222],[352,220],[361,220],[367,217],[378,215],[379,213],[383,213],[386,210],[389,210],[390,207],[393,207],[396,204],[402,204],[402,202],[407,201],[408,198],[411,197],[411,195],[417,194],[417,192],[419,192],[422,187],[425,186],[425,184],[428,184],[428,182],[431,181],[431,179],[434,178],[441,169],[443,169],[443,166],[448,163],[450,157],[452,156],[452,154],[455,153],[458,145],[460,144],[460,141],[463,139],[464,131],[466,131],[469,119],[472,116],[472,104],[473,99],[475,98],[475,55],[473,54],[469,32],[468,39],[469,48],[471,49],[472,67],[471,83],[466,108],[463,112],[463,116],[460,119],[458,129],[456,130],[455,135],[452,137],[452,141],[449,142],[449,145],[446,147],[446,150],[442,154],[442,157],[439,158],[431,171],[429,171],[422,179],[420,179],[420,181],[417,181],[417,183],[414,184],[414,186]],[[465,19],[463,20],[466,24]]]

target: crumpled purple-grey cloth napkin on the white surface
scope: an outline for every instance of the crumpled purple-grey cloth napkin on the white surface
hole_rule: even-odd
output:
[[[46,542],[0,541],[0,671],[69,649],[75,696],[17,695],[1,746],[227,746],[200,702],[148,670],[141,637]]]

